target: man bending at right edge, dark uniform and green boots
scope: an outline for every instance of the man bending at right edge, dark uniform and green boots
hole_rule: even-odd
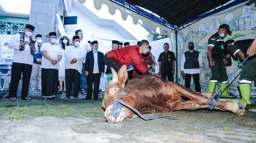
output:
[[[246,52],[249,46],[252,44],[254,39],[247,40],[228,40],[225,42],[225,45],[229,49],[230,53],[234,55],[235,58],[238,58],[240,62],[243,62],[246,58]],[[247,105],[251,105],[250,96],[251,96],[251,83],[256,78],[256,56],[251,56],[243,64],[243,68],[241,70],[241,75],[239,78],[239,89],[241,92],[241,100],[239,102],[244,102]],[[255,84],[255,83],[254,83]]]

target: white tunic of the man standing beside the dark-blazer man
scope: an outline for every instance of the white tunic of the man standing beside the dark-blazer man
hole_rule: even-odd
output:
[[[65,69],[76,69],[81,74],[85,54],[85,49],[81,48],[80,46],[67,46],[64,53],[66,58]],[[76,58],[77,62],[70,64],[73,58]]]

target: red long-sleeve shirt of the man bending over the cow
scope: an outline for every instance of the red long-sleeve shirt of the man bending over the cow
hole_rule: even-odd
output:
[[[111,50],[107,52],[106,55],[108,58],[113,57],[121,66],[134,64],[138,71],[145,73],[147,68],[143,65],[142,55],[139,54],[139,52],[140,47],[138,45],[133,45]]]

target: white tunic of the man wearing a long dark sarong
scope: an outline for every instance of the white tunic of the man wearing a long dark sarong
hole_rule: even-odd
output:
[[[62,51],[60,49],[60,46],[57,46],[56,44],[43,43],[41,48],[41,52],[46,51],[46,53],[53,59],[58,59],[59,55],[62,55]],[[57,62],[56,65],[53,65],[51,61],[47,60],[44,56],[42,56],[42,68],[44,69],[59,69],[59,62]]]

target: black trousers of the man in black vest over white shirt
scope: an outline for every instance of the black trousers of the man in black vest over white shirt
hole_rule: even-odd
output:
[[[194,79],[195,91],[201,92],[199,74],[185,74],[185,87],[190,89],[191,76],[193,76],[193,79]]]

